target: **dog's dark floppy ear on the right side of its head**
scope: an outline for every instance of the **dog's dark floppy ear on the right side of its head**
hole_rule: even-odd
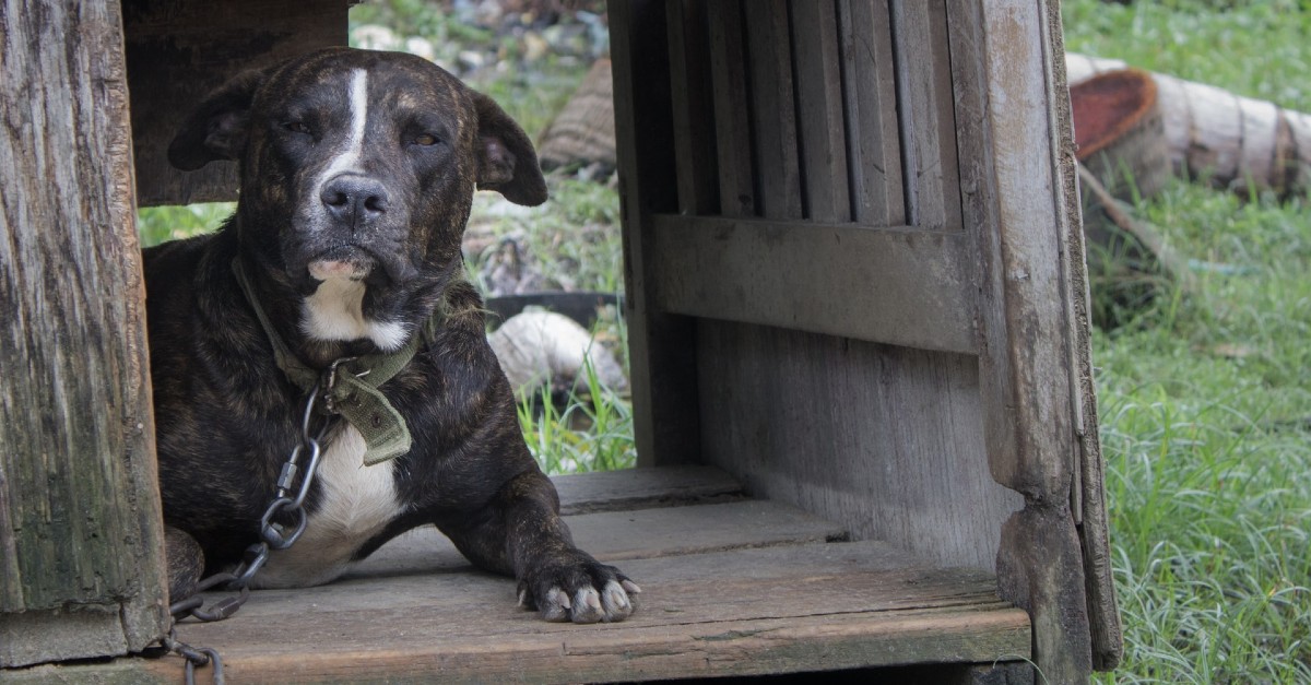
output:
[[[479,189],[496,190],[515,205],[547,201],[547,181],[532,140],[490,97],[473,93],[479,110]]]

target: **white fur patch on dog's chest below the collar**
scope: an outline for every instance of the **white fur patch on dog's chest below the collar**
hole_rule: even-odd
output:
[[[305,587],[336,579],[355,551],[402,510],[392,462],[364,466],[364,438],[351,425],[324,451],[315,479],[319,508],[309,514],[305,533],[290,549],[270,552],[252,587]]]

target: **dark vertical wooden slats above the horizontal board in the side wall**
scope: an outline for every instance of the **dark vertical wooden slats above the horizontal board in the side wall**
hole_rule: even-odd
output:
[[[683,214],[714,214],[717,172],[726,217],[961,227],[943,0],[674,3],[670,17]]]

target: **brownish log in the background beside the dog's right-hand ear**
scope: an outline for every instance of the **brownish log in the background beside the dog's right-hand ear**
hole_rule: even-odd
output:
[[[615,96],[610,59],[598,59],[538,146],[541,168],[591,167],[599,178],[615,171]]]

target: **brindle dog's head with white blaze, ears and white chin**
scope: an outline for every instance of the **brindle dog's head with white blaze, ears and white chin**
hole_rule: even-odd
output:
[[[475,188],[547,198],[532,143],[496,102],[400,52],[329,49],[235,77],[169,146],[180,169],[216,159],[239,163],[241,248],[305,298],[302,329],[383,349],[459,273]]]

